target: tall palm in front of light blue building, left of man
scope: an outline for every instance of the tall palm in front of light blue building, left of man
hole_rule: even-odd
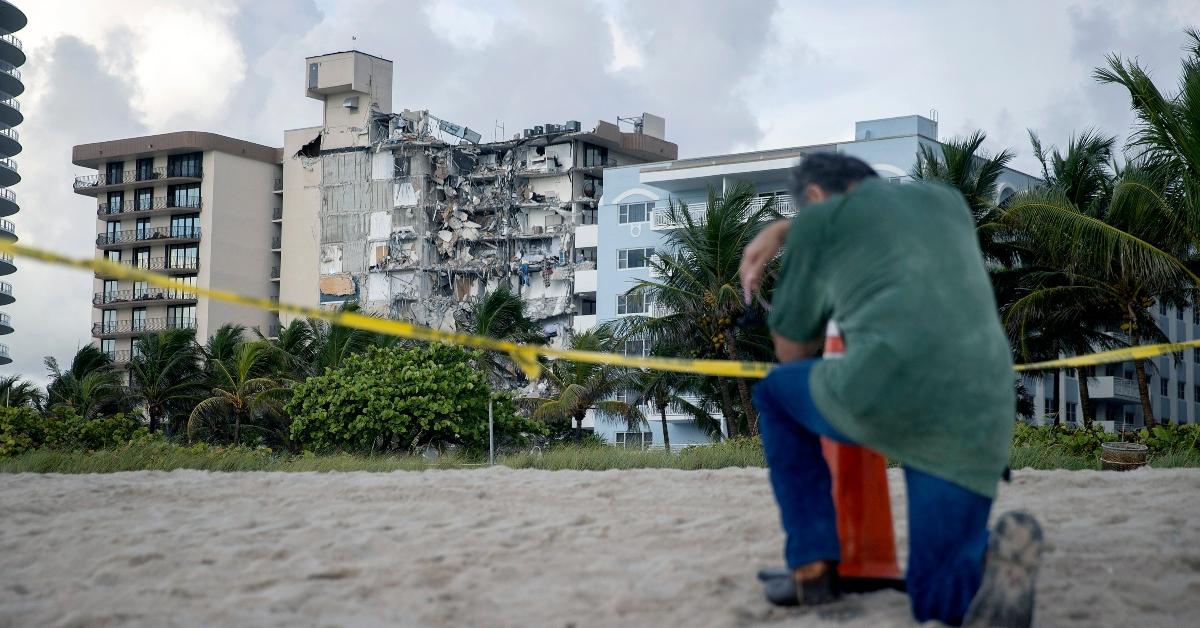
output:
[[[748,309],[738,277],[742,251],[766,222],[779,217],[773,201],[758,204],[755,199],[754,186],[739,181],[724,197],[710,187],[703,217],[694,217],[683,203],[671,207],[671,219],[680,228],[667,232],[664,252],[650,261],[653,274],[661,279],[640,280],[628,293],[661,307],[662,316],[629,317],[622,322],[622,335],[646,335],[655,346],[690,347],[697,358],[719,355],[740,361],[772,354],[758,305]],[[769,270],[773,275],[774,267]],[[769,282],[763,291],[769,294]],[[758,323],[739,324],[748,313]],[[736,385],[748,432],[757,435],[750,387],[743,378],[737,378]],[[733,436],[737,418],[724,379],[718,388]]]

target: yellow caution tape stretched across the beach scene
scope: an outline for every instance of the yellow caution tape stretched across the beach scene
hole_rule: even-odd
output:
[[[361,329],[364,331],[374,331],[377,334],[398,336],[409,340],[421,340],[426,342],[445,342],[448,345],[458,345],[462,347],[472,347],[486,351],[498,351],[509,354],[509,357],[512,358],[512,361],[515,361],[517,366],[520,366],[521,370],[524,371],[526,376],[528,376],[530,379],[536,379],[538,376],[541,373],[541,364],[538,361],[539,355],[546,358],[570,360],[570,361],[582,361],[588,364],[602,364],[607,366],[625,366],[630,369],[649,369],[656,371],[710,375],[716,377],[746,377],[754,379],[766,377],[767,372],[773,366],[773,364],[763,361],[689,360],[683,358],[655,358],[655,357],[641,358],[632,355],[623,355],[619,353],[601,353],[596,351],[559,349],[554,347],[544,347],[538,345],[520,345],[516,342],[508,342],[504,340],[497,340],[488,336],[478,336],[474,334],[460,334],[457,331],[443,331],[440,329],[421,327],[404,321],[377,318],[373,316],[361,315],[356,312],[322,310],[319,307],[310,307],[288,303],[276,303],[269,299],[262,299],[257,297],[245,297],[228,291],[191,286],[181,281],[170,279],[167,275],[151,273],[149,270],[143,270],[140,268],[134,268],[126,264],[109,262],[107,259],[100,259],[100,258],[77,259],[61,256],[59,253],[54,253],[52,251],[46,251],[43,249],[24,246],[6,240],[0,240],[0,252],[22,257],[30,257],[42,262],[47,262],[49,264],[72,267],[72,268],[78,268],[80,270],[91,270],[92,273],[102,274],[104,276],[114,279],[124,279],[128,281],[145,281],[151,286],[178,289],[181,292],[187,292],[191,294],[205,297],[218,301],[245,305],[247,307],[257,307],[259,310],[278,310],[281,312],[290,312],[307,318],[318,318],[322,321],[328,321],[336,325]],[[1147,358],[1165,355],[1168,353],[1175,353],[1187,348],[1200,348],[1200,340],[1192,340],[1187,342],[1171,342],[1163,345],[1144,345],[1140,347],[1103,351],[1088,355],[1075,355],[1072,358],[1046,360],[1033,364],[1019,364],[1015,366],[1015,369],[1018,371],[1078,369],[1081,366],[1096,366],[1100,364],[1144,360]]]

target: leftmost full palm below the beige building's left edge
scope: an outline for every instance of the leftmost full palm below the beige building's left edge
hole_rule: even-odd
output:
[[[59,361],[47,357],[46,369],[50,383],[46,387],[46,409],[70,408],[91,419],[130,409],[121,373],[113,370],[108,354],[92,345],[84,345],[64,371]]]

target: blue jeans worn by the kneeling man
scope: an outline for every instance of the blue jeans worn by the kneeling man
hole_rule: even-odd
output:
[[[838,516],[821,436],[844,443],[809,391],[816,360],[779,365],[754,389],[758,429],[779,502],[788,568],[838,561]],[[998,482],[1000,478],[997,478]],[[906,584],[917,621],[962,623],[983,579],[991,500],[905,467],[908,488]]]

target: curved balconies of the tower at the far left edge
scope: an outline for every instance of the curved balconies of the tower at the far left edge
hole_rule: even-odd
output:
[[[11,187],[20,181],[17,162],[12,157],[20,152],[20,136],[14,128],[25,120],[17,96],[25,91],[19,67],[25,65],[25,52],[13,32],[25,28],[25,13],[12,2],[0,0],[0,239],[16,241],[17,227],[7,219],[20,207]],[[12,275],[17,265],[12,256],[0,253],[0,276]],[[14,303],[12,285],[0,281],[0,306]],[[12,334],[12,318],[0,311],[0,335]],[[0,365],[11,364],[8,346],[0,345]]]

